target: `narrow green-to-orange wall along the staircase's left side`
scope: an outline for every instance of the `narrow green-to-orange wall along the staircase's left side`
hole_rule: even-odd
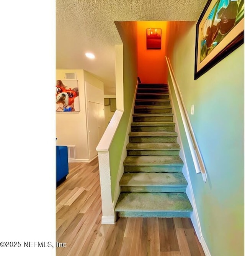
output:
[[[137,84],[137,22],[123,21],[115,24],[123,41],[124,112],[109,149],[112,200]]]

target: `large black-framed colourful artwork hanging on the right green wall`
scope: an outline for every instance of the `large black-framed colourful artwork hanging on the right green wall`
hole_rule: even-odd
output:
[[[194,79],[244,43],[244,0],[208,0],[196,24]]]

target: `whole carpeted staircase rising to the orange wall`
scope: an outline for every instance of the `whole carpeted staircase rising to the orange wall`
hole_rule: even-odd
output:
[[[120,217],[190,217],[167,84],[139,83],[129,133]]]

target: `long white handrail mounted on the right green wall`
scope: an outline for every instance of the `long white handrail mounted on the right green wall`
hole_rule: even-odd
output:
[[[179,109],[180,109],[180,114],[181,114],[181,118],[182,118],[183,125],[184,125],[184,128],[185,128],[189,148],[191,150],[191,156],[192,156],[193,163],[194,163],[194,166],[195,166],[195,169],[196,169],[196,173],[201,172],[202,176],[203,176],[203,180],[204,180],[204,182],[206,182],[207,173],[206,173],[206,168],[205,168],[205,165],[204,165],[204,162],[203,162],[203,158],[201,156],[198,144],[196,142],[196,138],[195,138],[192,126],[191,126],[191,122],[189,120],[188,113],[186,111],[185,104],[183,102],[183,98],[182,98],[182,95],[181,95],[181,92],[180,92],[180,88],[178,86],[175,75],[173,73],[172,66],[170,64],[170,59],[167,58],[167,56],[166,56],[166,60],[167,60],[167,64],[168,64],[169,73],[170,73],[170,76],[171,76],[171,79],[172,79],[172,82],[173,82],[173,88],[175,90],[176,98],[177,98],[177,101],[178,101],[178,106],[179,106]]]

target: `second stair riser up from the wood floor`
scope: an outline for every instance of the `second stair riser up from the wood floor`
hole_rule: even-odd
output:
[[[121,186],[121,192],[142,192],[142,193],[185,193],[186,186],[149,186],[133,187]]]

